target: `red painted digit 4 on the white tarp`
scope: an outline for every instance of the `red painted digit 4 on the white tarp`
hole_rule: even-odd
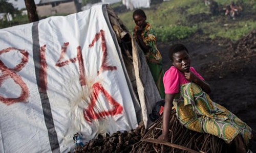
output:
[[[61,54],[60,54],[60,58],[59,60],[56,62],[56,66],[58,67],[62,67],[65,65],[68,65],[70,62],[71,63],[75,63],[78,60],[78,65],[79,65],[79,81],[80,81],[80,85],[84,86],[86,85],[86,77],[85,77],[85,70],[84,70],[84,65],[83,65],[83,59],[82,59],[82,53],[81,53],[81,47],[78,46],[77,49],[77,56],[75,58],[63,61],[64,56],[66,55],[67,52],[67,47],[69,45],[69,42],[65,42],[63,44],[63,46],[61,47]]]

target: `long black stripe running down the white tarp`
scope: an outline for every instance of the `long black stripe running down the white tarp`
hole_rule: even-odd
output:
[[[60,152],[60,149],[59,149],[57,133],[56,133],[54,122],[53,122],[50,101],[47,95],[47,91],[46,90],[40,91],[39,89],[40,88],[39,71],[40,71],[41,57],[40,57],[38,23],[39,21],[33,22],[33,25],[32,25],[33,60],[35,65],[36,83],[37,83],[37,88],[38,88],[40,99],[41,99],[42,112],[44,113],[44,118],[45,118],[45,123],[48,131],[48,137],[49,137],[51,149],[52,149],[52,152],[57,153],[57,152]]]

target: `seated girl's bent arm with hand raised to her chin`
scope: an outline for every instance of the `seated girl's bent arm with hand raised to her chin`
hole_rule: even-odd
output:
[[[211,92],[210,85],[208,83],[206,83],[205,81],[199,79],[197,77],[197,75],[195,75],[193,72],[191,72],[191,71],[184,72],[184,75],[187,80],[198,84],[203,89],[203,91],[206,92],[207,94],[209,94]]]

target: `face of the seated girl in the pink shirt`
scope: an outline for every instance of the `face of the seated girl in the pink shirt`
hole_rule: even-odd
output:
[[[173,54],[173,65],[182,72],[188,72],[190,67],[190,57],[186,50]]]

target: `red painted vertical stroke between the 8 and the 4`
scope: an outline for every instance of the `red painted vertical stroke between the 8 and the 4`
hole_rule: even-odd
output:
[[[47,90],[46,45],[40,47],[39,92]]]

